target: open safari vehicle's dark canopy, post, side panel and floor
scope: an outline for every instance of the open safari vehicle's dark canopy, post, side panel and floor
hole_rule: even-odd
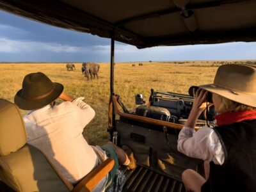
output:
[[[118,132],[118,145],[129,145],[138,163],[136,170],[124,170],[124,191],[185,191],[180,178],[185,169],[204,174],[200,159],[177,151],[179,120],[188,116],[193,97],[152,90],[148,104],[139,94],[137,103],[142,106],[129,113],[114,89],[115,41],[138,49],[254,42],[256,1],[0,0],[0,8],[52,26],[111,38],[109,138]],[[140,110],[148,109],[150,116],[141,115]],[[166,116],[159,118],[159,114]]]

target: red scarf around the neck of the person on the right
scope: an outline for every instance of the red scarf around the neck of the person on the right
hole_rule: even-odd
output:
[[[218,126],[230,125],[244,120],[256,119],[256,109],[250,111],[227,112],[214,116]]]

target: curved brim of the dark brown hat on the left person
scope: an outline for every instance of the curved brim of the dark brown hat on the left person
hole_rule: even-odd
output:
[[[24,109],[24,110],[40,109],[44,106],[47,106],[47,104],[50,104],[52,101],[56,100],[63,92],[64,87],[62,84],[53,83],[53,86],[54,86],[53,88],[54,90],[50,95],[38,100],[24,99],[22,97],[22,90],[19,90],[19,92],[17,92],[14,97],[14,102],[15,104],[17,104],[17,106],[20,109]]]

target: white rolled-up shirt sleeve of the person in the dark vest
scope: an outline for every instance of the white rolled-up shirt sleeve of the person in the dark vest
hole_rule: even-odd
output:
[[[179,133],[178,150],[186,156],[223,164],[225,154],[214,129],[204,127],[195,131],[184,126]]]

